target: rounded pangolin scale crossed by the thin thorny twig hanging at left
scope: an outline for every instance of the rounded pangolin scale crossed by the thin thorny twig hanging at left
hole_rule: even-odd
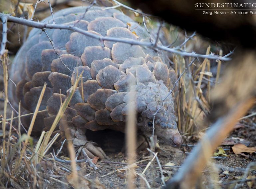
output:
[[[82,61],[79,57],[72,54],[63,54],[61,55],[61,58],[58,57],[52,61],[51,70],[52,72],[58,72],[71,76],[74,68],[78,66],[82,66]]]

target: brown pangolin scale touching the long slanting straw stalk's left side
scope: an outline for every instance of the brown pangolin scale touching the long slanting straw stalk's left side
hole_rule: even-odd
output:
[[[48,100],[47,100],[47,111],[50,116],[57,115],[59,112],[61,103],[64,102],[66,95],[54,93]]]

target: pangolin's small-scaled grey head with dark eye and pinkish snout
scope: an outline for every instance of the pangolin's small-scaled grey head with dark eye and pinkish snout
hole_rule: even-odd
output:
[[[149,82],[147,86],[137,84],[134,88],[137,125],[143,134],[151,136],[154,127],[154,134],[167,144],[181,146],[182,137],[177,128],[174,100],[163,81]]]

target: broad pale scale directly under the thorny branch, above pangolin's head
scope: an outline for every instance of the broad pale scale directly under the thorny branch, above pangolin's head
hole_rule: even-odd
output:
[[[122,64],[129,57],[138,58],[141,56],[144,58],[146,56],[139,45],[130,45],[122,42],[113,44],[111,55],[113,62],[117,64]]]

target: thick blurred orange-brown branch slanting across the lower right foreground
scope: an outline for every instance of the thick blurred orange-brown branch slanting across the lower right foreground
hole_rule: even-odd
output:
[[[243,100],[226,116],[219,118],[186,158],[180,171],[169,180],[166,188],[192,188],[214,150],[233,130],[237,120],[247,112],[255,100],[255,97]]]

